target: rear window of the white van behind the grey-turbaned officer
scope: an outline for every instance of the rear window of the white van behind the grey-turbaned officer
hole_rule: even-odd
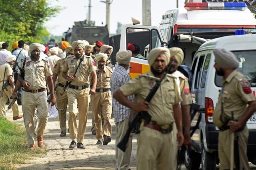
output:
[[[232,51],[238,61],[239,67],[236,69],[238,72],[242,73],[251,87],[256,87],[256,51]],[[222,86],[222,77],[215,73],[215,84],[218,87]]]

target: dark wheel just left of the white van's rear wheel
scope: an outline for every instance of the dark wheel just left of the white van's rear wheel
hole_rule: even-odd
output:
[[[186,149],[184,164],[187,170],[198,170],[201,164],[201,154],[191,148]]]

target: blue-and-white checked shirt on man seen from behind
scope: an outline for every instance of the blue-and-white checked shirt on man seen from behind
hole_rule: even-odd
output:
[[[122,85],[129,82],[131,79],[130,74],[126,71],[123,66],[118,66],[110,79],[110,87],[111,87],[111,94],[112,94],[112,106],[113,106],[113,113],[115,118],[115,123],[118,123],[124,119],[128,119],[130,115],[130,108],[123,106],[116,99],[113,98],[114,92],[118,90]],[[128,100],[134,102],[134,96],[127,96]]]

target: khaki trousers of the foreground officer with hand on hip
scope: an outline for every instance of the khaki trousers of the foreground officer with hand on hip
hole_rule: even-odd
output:
[[[171,150],[176,145],[176,141],[173,143],[172,133],[163,134],[144,127],[142,121],[137,143],[137,170],[170,170],[176,166],[177,152]]]

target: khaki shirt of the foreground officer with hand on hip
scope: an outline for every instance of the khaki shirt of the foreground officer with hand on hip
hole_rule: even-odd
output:
[[[175,79],[174,76],[167,74],[148,106],[148,113],[152,116],[151,120],[159,125],[173,123],[175,120],[172,106],[182,102]],[[135,101],[139,103],[146,99],[156,84],[156,80],[160,79],[149,71],[124,84],[120,90],[124,96],[135,94]]]

